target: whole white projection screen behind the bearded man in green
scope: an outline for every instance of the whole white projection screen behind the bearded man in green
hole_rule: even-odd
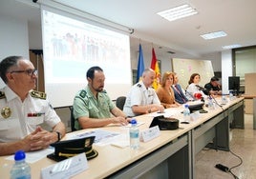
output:
[[[45,91],[53,107],[73,105],[75,93],[87,85],[86,71],[104,70],[104,89],[114,100],[132,85],[127,34],[92,25],[81,17],[42,9]]]

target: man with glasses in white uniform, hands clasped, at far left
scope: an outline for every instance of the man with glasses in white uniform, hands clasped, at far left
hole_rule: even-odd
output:
[[[0,63],[0,155],[12,154],[18,149],[32,151],[48,148],[65,135],[60,121],[44,92],[35,88],[37,70],[32,62],[21,56],[10,56]],[[53,131],[42,129],[48,124]]]

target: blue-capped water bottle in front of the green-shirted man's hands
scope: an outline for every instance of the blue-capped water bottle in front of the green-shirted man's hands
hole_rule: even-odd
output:
[[[139,149],[139,128],[136,119],[131,121],[132,127],[130,128],[130,147],[131,149]]]

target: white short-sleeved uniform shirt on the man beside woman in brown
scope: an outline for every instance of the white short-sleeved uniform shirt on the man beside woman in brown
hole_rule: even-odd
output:
[[[126,96],[123,111],[127,116],[136,116],[132,110],[133,106],[145,106],[151,104],[160,105],[160,99],[155,89],[151,87],[146,88],[143,82],[139,82],[132,87]]]

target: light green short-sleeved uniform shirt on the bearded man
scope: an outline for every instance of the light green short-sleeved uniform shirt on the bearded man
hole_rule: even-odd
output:
[[[88,86],[79,90],[75,95],[73,105],[75,129],[81,129],[77,121],[79,117],[109,118],[111,117],[111,110],[115,107],[105,90],[98,92],[97,98]]]

